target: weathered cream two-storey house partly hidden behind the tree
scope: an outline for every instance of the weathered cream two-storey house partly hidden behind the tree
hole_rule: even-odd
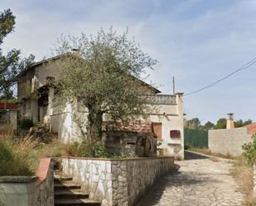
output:
[[[65,103],[56,98],[55,89],[51,82],[61,79],[60,71],[56,69],[51,61],[61,60],[61,55],[42,60],[31,65],[22,71],[17,78],[17,93],[20,101],[19,111],[21,118],[31,118],[34,123],[48,122],[51,132],[58,133],[63,142],[78,140],[78,128],[72,119],[72,114],[78,113],[80,119],[86,121],[86,108],[80,104]],[[138,79],[147,88],[151,99],[150,104],[154,106],[151,112],[147,113],[147,121],[138,117],[140,122],[150,124],[157,141],[159,155],[184,158],[183,143],[183,99],[182,93],[162,94],[156,88]],[[156,112],[157,111],[157,112]],[[137,131],[141,132],[140,124]]]

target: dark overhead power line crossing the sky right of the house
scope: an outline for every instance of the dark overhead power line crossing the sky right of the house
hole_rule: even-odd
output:
[[[237,72],[239,72],[239,71],[243,71],[243,70],[245,70],[245,69],[248,69],[251,65],[254,65],[255,63],[256,63],[256,57],[255,57],[253,60],[250,60],[250,61],[249,61],[248,63],[246,63],[245,65],[239,67],[239,69],[235,69],[232,73],[226,75],[225,77],[223,77],[223,78],[221,78],[221,79],[218,79],[217,81],[215,81],[215,82],[213,82],[213,83],[211,83],[211,84],[209,84],[209,85],[207,85],[207,86],[205,86],[205,87],[203,87],[203,88],[201,88],[201,89],[197,89],[197,90],[195,90],[195,91],[193,91],[193,92],[191,92],[191,93],[185,93],[184,96],[188,96],[188,95],[191,95],[191,94],[193,94],[193,93],[199,93],[200,91],[203,91],[203,90],[205,90],[205,89],[208,89],[208,88],[214,86],[215,84],[219,84],[221,81],[223,81],[223,80],[225,80],[225,79],[228,79],[228,78],[229,78],[230,76],[232,76],[233,74],[235,74],[235,73],[237,73]]]

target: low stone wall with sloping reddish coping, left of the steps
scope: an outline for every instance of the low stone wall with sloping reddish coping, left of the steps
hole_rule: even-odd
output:
[[[44,160],[44,161],[43,161]],[[50,159],[41,160],[37,172],[36,206],[54,206],[54,169]]]

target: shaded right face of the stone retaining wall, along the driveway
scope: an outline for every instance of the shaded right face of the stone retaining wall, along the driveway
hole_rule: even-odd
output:
[[[120,160],[112,164],[113,205],[134,205],[162,175],[171,172],[173,159]]]

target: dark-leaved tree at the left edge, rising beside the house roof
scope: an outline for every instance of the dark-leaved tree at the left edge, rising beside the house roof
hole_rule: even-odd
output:
[[[0,12],[0,98],[13,98],[13,85],[22,69],[30,65],[34,56],[22,59],[21,51],[12,49],[7,55],[2,54],[4,37],[14,31],[15,17],[10,9]]]

